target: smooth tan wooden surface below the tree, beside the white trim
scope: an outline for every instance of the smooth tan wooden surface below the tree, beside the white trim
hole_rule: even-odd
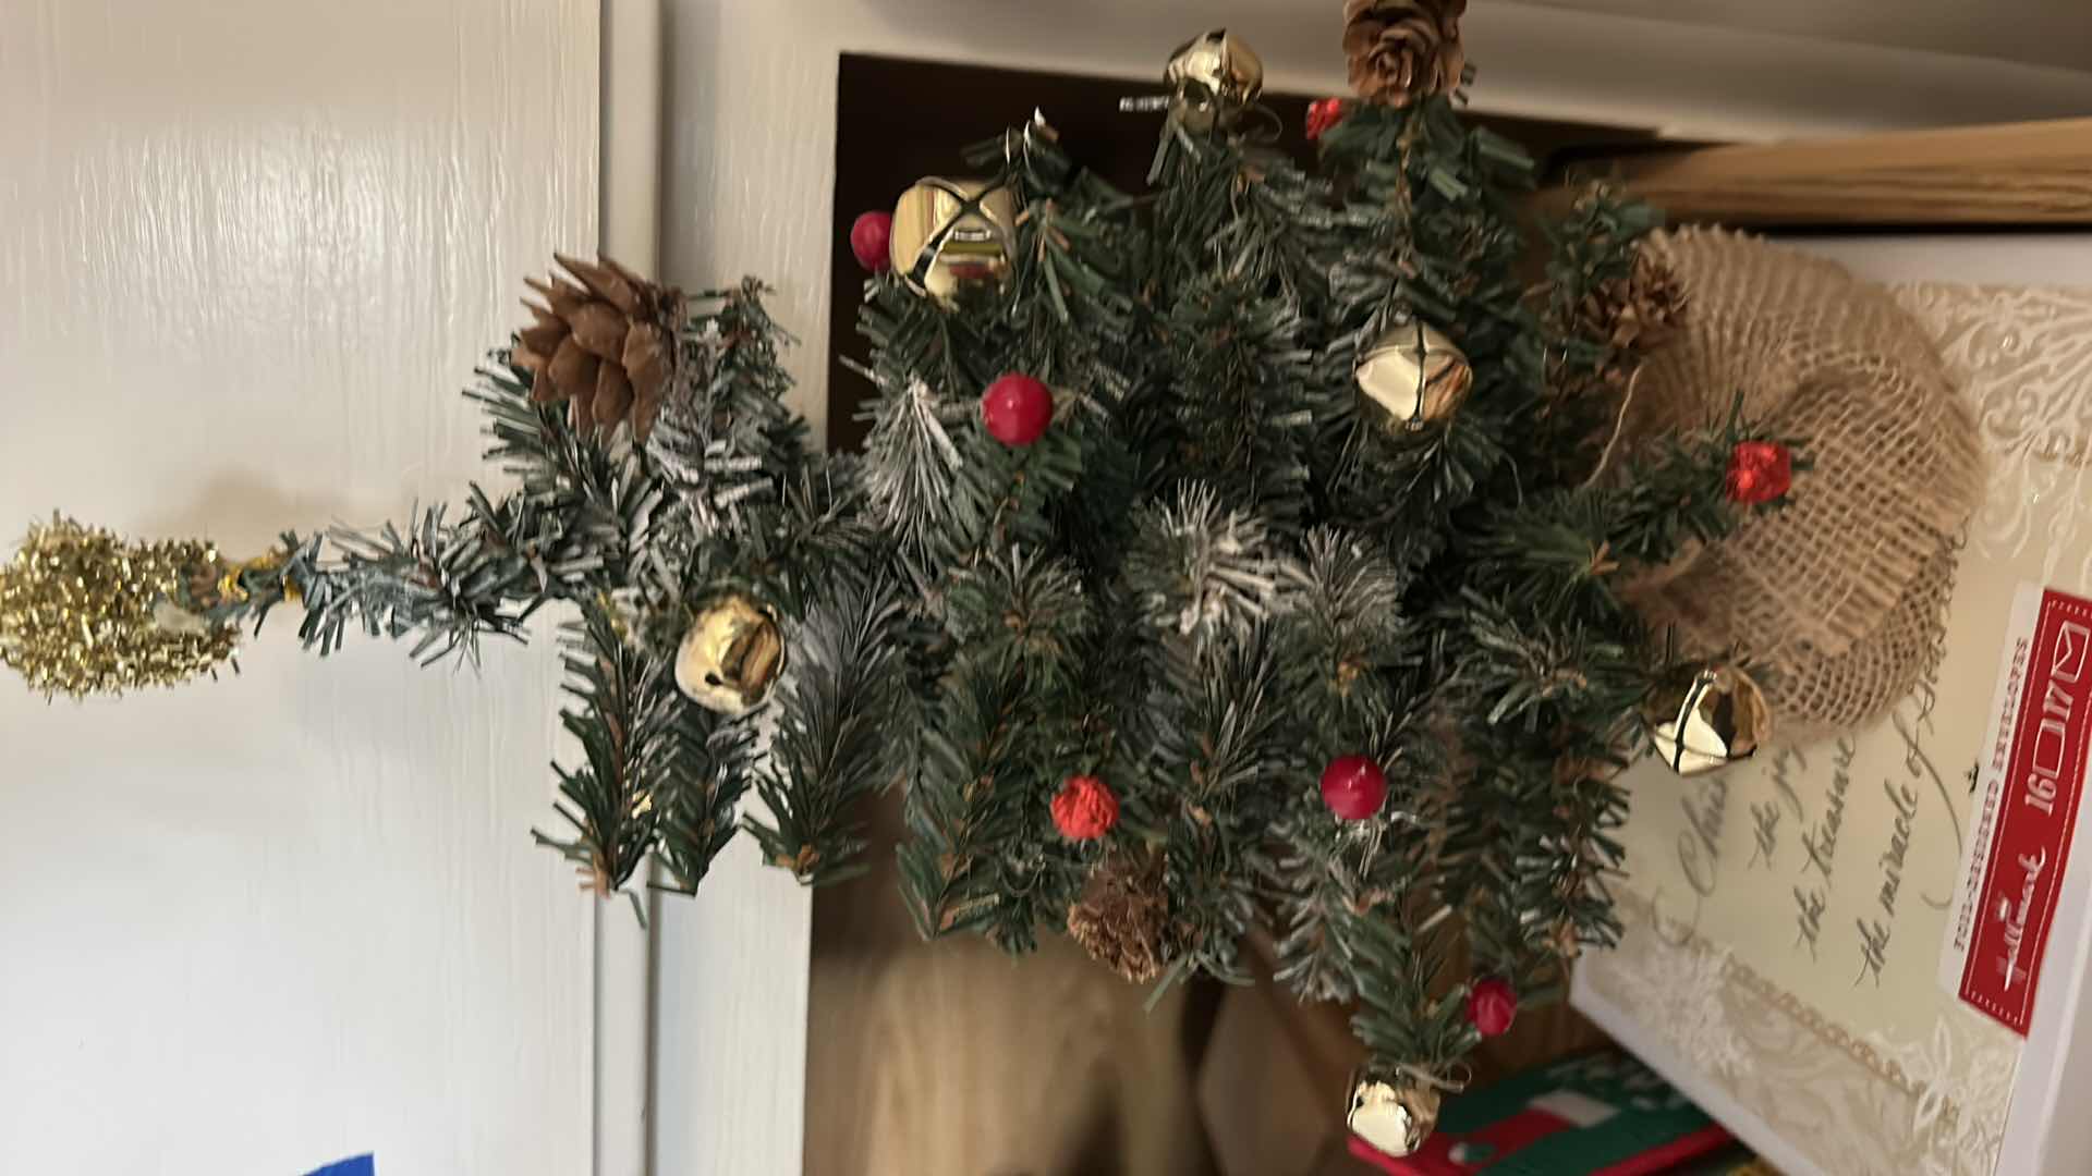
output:
[[[1025,960],[925,944],[895,889],[895,804],[879,868],[814,898],[808,1176],[1213,1174],[1186,1050],[1211,1000],[1142,1013],[1146,990],[1059,935]]]

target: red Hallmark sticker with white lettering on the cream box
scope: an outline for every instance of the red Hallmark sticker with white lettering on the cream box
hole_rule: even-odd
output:
[[[1994,824],[1975,902],[1960,912],[1960,996],[2025,1036],[2056,891],[2071,856],[2092,743],[2092,601],[2042,592],[2015,626],[1981,820]],[[1975,875],[1975,870],[1971,870]],[[1971,881],[1975,881],[1971,877]]]

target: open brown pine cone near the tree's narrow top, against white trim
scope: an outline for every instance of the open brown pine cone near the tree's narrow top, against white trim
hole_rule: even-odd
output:
[[[550,282],[525,278],[546,306],[523,301],[536,322],[521,331],[513,356],[533,377],[531,400],[571,402],[573,427],[584,433],[630,421],[644,442],[676,375],[682,291],[611,259],[552,257],[571,280],[559,272]]]

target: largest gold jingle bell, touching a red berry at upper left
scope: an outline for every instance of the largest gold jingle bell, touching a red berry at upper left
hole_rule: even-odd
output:
[[[893,272],[937,301],[952,301],[960,287],[1002,285],[1015,251],[1017,197],[1008,186],[929,176],[893,205]]]

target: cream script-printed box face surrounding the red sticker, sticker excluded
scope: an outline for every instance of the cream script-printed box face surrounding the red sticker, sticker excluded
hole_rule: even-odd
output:
[[[2092,291],[1895,295],[1994,462],[1939,672],[1845,739],[1695,781],[1630,772],[1628,929],[1582,963],[1577,1002],[1690,1067],[1688,1090],[1753,1117],[1789,1161],[1985,1176],[2021,1036],[1939,983],[1941,944],[2015,592],[2092,590]],[[2079,858],[2075,879],[2092,845]]]

